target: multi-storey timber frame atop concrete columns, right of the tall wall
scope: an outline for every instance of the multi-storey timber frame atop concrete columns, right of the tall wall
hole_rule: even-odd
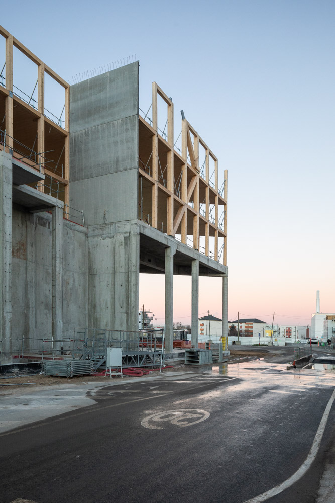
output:
[[[158,97],[167,105],[167,134],[158,127]],[[220,193],[216,156],[185,118],[182,119],[182,148],[178,152],[174,144],[173,115],[172,100],[153,82],[152,120],[147,114],[144,118],[139,115],[139,218],[226,265],[227,170],[222,184],[224,190]],[[199,166],[199,146],[205,151],[203,171]],[[214,163],[213,183],[210,160]],[[219,209],[222,209],[221,215]],[[210,250],[210,238],[214,241],[214,251]],[[219,239],[222,240],[220,247]]]

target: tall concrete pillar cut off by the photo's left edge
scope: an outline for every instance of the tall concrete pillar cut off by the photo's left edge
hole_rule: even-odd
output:
[[[12,156],[0,152],[0,360],[12,362]]]

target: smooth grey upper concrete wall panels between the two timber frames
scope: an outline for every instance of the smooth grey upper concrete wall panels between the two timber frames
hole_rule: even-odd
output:
[[[138,89],[138,62],[70,88],[70,206],[86,225],[137,218]]]

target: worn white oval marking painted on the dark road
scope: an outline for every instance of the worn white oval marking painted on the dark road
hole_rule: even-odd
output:
[[[201,409],[168,410],[164,412],[156,412],[156,414],[151,414],[145,417],[141,421],[141,425],[144,428],[150,428],[151,430],[164,430],[162,426],[156,426],[154,423],[169,421],[171,425],[185,427],[201,423],[201,421],[208,419],[209,416],[209,412]]]

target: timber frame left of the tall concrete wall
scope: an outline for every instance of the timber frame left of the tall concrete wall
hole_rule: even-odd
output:
[[[0,74],[0,150],[39,170],[43,180],[32,186],[68,205],[70,85],[1,26],[0,35],[6,42]],[[14,48],[36,65],[37,100],[32,98],[35,88],[29,96],[14,85]],[[64,121],[45,109],[45,74],[64,88]]]

